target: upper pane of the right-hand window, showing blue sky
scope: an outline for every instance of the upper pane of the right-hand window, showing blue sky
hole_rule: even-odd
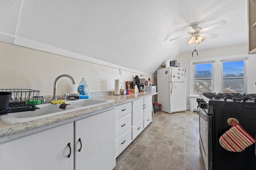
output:
[[[223,62],[223,77],[244,77],[244,61]]]

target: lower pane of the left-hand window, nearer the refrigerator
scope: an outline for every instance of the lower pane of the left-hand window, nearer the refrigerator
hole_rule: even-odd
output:
[[[195,94],[212,92],[212,80],[195,80]]]

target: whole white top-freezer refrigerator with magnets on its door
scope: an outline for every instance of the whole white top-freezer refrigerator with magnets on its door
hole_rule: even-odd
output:
[[[186,111],[186,68],[157,70],[158,103],[167,113]]]

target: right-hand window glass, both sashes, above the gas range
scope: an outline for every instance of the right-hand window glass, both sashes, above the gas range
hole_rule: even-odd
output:
[[[245,93],[245,61],[222,60],[222,92]]]

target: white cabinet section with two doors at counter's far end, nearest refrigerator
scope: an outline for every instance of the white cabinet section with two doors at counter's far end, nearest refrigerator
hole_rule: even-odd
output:
[[[151,113],[152,96],[132,102],[132,140],[134,140],[143,131],[143,129],[152,122]],[[142,123],[144,124],[143,126]]]

